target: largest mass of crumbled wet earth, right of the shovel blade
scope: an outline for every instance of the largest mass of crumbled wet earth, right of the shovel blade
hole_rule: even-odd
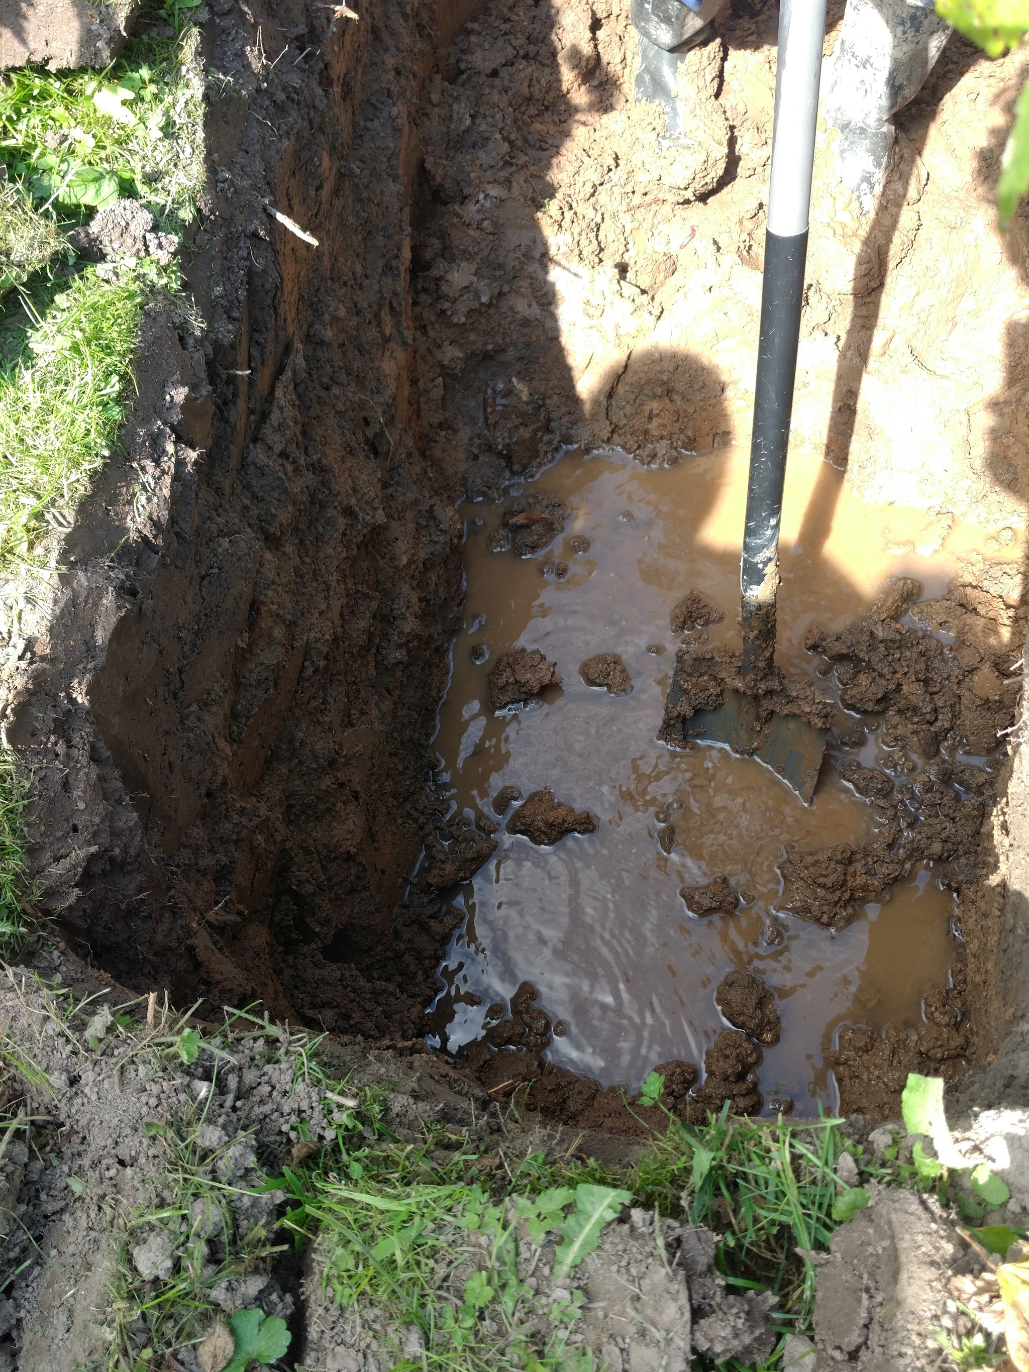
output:
[[[896,753],[893,777],[849,763],[842,777],[875,804],[875,827],[860,847],[834,844],[790,852],[782,863],[782,908],[844,929],[919,863],[933,863],[954,890],[978,875],[980,834],[995,778],[952,759],[986,755],[1014,722],[1021,675],[1011,631],[1025,612],[970,586],[918,601],[919,582],[899,579],[855,624],[840,632],[814,626],[811,652],[833,664],[845,709],[873,715]],[[903,616],[919,626],[900,623]],[[949,646],[926,630],[954,635]],[[847,735],[852,744],[860,738]]]

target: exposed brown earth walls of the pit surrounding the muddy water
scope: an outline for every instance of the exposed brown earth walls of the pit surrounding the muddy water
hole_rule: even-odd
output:
[[[206,332],[150,318],[128,451],[63,539],[49,598],[22,595],[4,624],[3,722],[36,768],[43,908],[126,985],[261,1000],[340,1034],[423,1033],[451,932],[434,888],[488,847],[483,826],[438,833],[429,785],[461,613],[457,501],[564,445],[663,462],[745,436],[775,10],[734,0],[690,54],[696,140],[661,155],[656,110],[627,97],[627,11],[539,0],[464,29],[457,0],[357,22],[302,0],[203,11],[204,66],[226,78],[209,89],[188,265]],[[919,663],[930,630],[956,635],[960,672],[933,679],[951,727],[974,707],[977,748],[1013,718],[1024,634],[1004,549],[1029,494],[1028,221],[1002,247],[991,209],[1024,63],[951,40],[899,118],[870,220],[820,136],[796,405],[796,442],[827,435],[860,493],[923,508],[929,543],[955,519],[997,531],[960,594],[906,630]],[[553,512],[516,516],[509,536],[531,542]],[[930,756],[923,663],[890,675],[847,635],[812,648],[853,661],[860,708],[897,713]],[[908,833],[907,807],[943,834],[955,785],[926,768],[884,823]],[[982,986],[1010,925],[985,895],[1006,860],[989,826],[978,875],[973,862],[986,814],[985,797],[965,803],[938,855],[966,892],[982,1051],[1006,1028]],[[868,879],[893,879],[866,856],[799,867],[800,912],[822,918],[827,884],[845,914]],[[941,988],[944,1019],[960,989]],[[947,1024],[926,1029],[936,1043]],[[962,1033],[945,1061],[967,1061]],[[866,1048],[844,1051],[890,1056],[875,1109],[893,1109],[893,1047]],[[752,1065],[733,1072],[752,1103]]]

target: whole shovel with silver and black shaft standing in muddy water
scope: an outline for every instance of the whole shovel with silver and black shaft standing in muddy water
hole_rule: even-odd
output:
[[[779,520],[804,303],[825,27],[826,0],[782,0],[761,332],[740,564],[744,689],[726,689],[722,705],[697,711],[689,723],[691,738],[727,744],[735,753],[760,757],[805,804],[815,792],[827,730],[815,729],[796,715],[777,715],[771,724],[761,724],[759,697],[775,657]]]

